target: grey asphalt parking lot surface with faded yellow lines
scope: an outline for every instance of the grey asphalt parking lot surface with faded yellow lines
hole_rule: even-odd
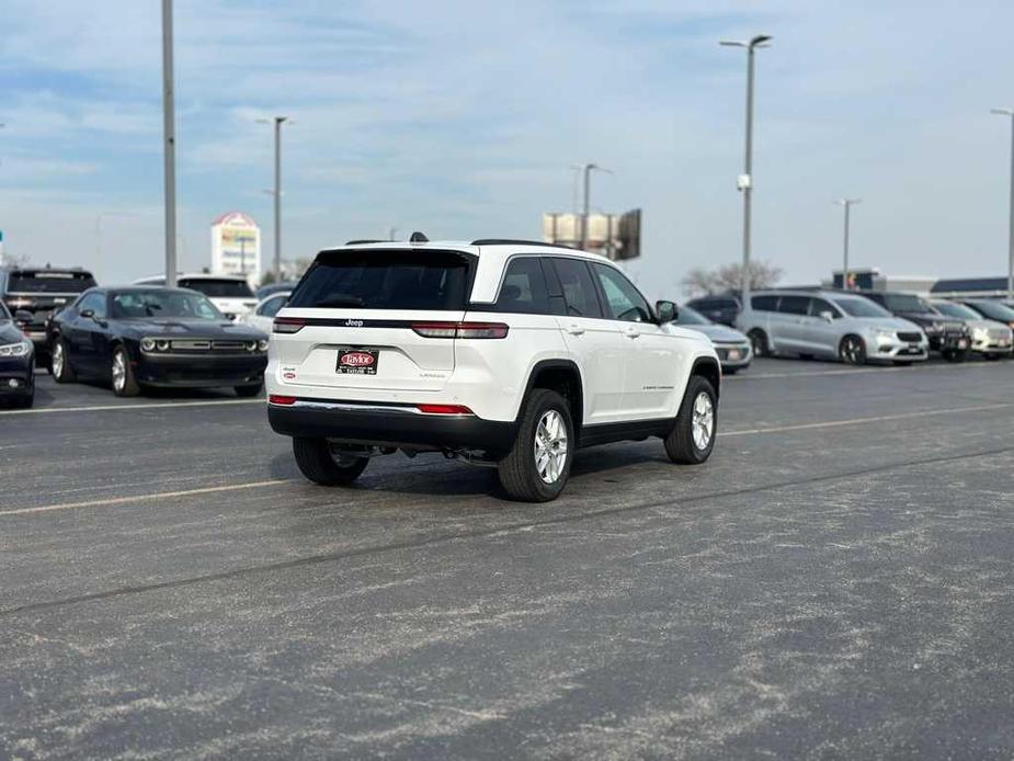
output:
[[[703,467],[305,482],[263,400],[0,411],[0,757],[1014,754],[1014,362],[727,378]]]

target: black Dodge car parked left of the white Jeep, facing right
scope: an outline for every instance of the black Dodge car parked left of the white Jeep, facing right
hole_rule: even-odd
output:
[[[184,288],[86,291],[50,320],[49,348],[57,383],[93,378],[116,396],[221,386],[257,396],[267,364],[267,336]]]

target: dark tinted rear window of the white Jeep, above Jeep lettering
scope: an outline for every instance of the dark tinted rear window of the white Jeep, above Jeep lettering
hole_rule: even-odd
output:
[[[331,309],[465,308],[469,260],[451,251],[322,253],[287,307]]]

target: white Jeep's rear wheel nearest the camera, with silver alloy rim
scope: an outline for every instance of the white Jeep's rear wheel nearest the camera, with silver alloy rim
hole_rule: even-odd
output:
[[[503,490],[521,502],[556,499],[570,477],[574,444],[567,400],[536,388],[525,402],[511,451],[497,466]]]

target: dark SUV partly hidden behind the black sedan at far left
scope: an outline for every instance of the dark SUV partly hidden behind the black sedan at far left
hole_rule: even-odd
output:
[[[92,274],[81,268],[5,266],[0,269],[2,300],[25,336],[35,344],[36,363],[48,359],[46,322],[49,317],[73,302],[82,291],[95,284]],[[31,320],[22,320],[27,313]]]

